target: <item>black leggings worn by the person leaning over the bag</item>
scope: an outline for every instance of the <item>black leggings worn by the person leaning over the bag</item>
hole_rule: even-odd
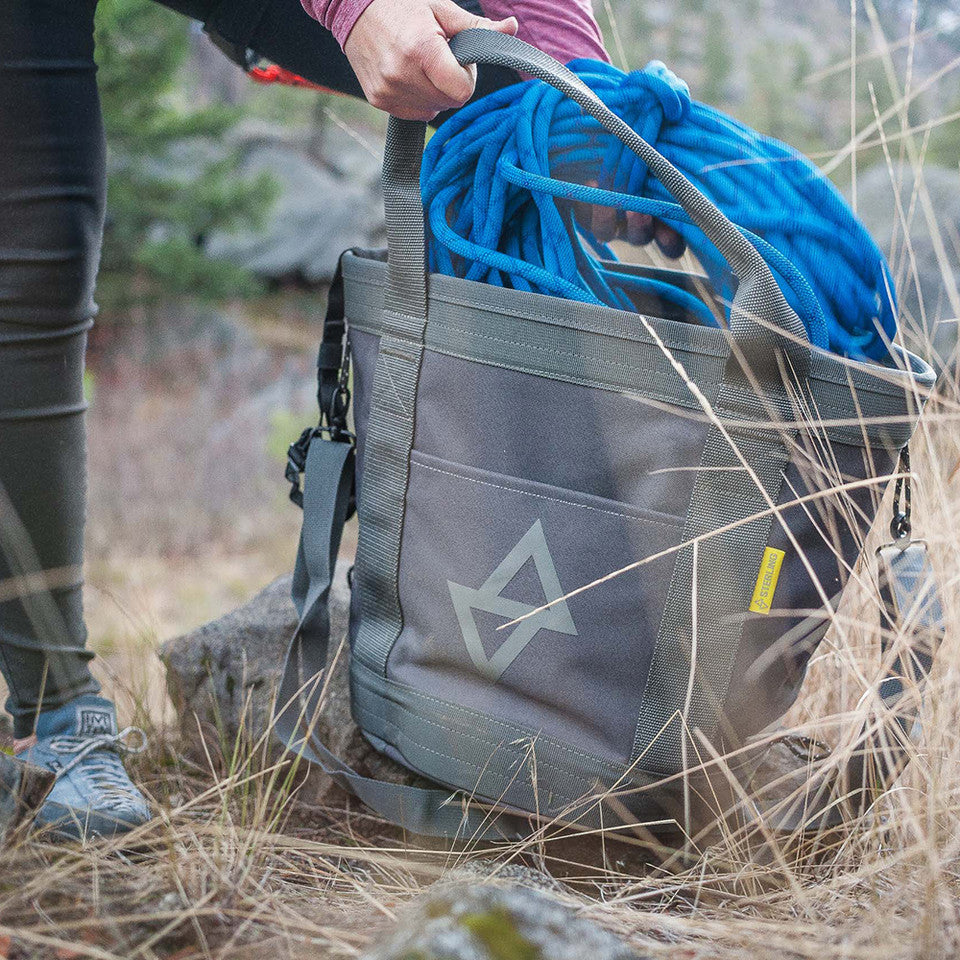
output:
[[[216,5],[164,2],[198,20]],[[39,710],[98,689],[81,594],[83,364],[105,197],[95,7],[3,0],[0,14],[0,669],[17,736]],[[226,39],[360,94],[336,41],[299,0],[261,9],[249,35],[237,28]],[[512,79],[481,70],[478,95]]]

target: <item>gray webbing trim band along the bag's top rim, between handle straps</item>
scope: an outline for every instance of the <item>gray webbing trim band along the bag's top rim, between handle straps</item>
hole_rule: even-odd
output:
[[[355,255],[344,256],[343,263],[350,325],[376,336],[394,332],[396,319],[384,313],[384,264]],[[424,342],[430,350],[465,360],[700,409],[636,314],[583,306],[431,274]],[[714,401],[730,350],[724,332],[660,317],[646,320]],[[550,335],[540,331],[550,328],[558,328],[556,337],[569,356],[524,350],[528,342],[546,341]],[[808,416],[812,423],[822,421],[817,425],[821,435],[852,446],[893,450],[907,442],[921,407],[915,401],[922,402],[934,376],[908,351],[894,346],[893,352],[898,367],[841,361],[822,351],[812,354]],[[617,365],[606,363],[608,358]],[[766,418],[763,412],[755,416]]]

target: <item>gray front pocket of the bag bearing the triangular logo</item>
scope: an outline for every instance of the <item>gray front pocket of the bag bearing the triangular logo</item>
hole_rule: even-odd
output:
[[[388,677],[624,761],[682,527],[414,451]]]

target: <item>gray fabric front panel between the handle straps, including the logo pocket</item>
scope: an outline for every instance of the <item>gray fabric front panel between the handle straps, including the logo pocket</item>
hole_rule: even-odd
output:
[[[387,677],[626,762],[689,498],[676,467],[698,461],[698,427],[428,350]]]

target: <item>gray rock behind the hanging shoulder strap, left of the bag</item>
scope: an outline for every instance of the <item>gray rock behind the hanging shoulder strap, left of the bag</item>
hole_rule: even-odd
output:
[[[349,557],[337,565],[330,594],[331,659],[347,633],[349,565]],[[160,648],[167,669],[167,691],[179,717],[181,749],[198,762],[206,763],[207,751],[215,757],[229,757],[238,738],[256,744],[269,730],[287,642],[297,623],[290,583],[289,575],[280,577],[242,607]],[[353,722],[345,647],[327,685],[317,736],[366,776],[415,782],[413,774],[377,753]],[[272,755],[278,756],[279,744],[269,738],[267,742]],[[326,804],[342,801],[343,793],[329,777],[314,770],[298,798],[308,804]]]

